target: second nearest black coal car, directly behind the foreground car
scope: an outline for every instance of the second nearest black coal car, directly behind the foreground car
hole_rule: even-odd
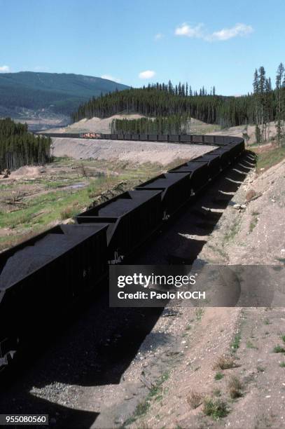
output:
[[[122,261],[151,236],[161,222],[161,191],[129,191],[78,214],[76,221],[107,223],[108,258]]]

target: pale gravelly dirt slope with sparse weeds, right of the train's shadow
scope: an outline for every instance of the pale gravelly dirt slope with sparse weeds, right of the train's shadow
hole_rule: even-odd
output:
[[[285,161],[258,176],[251,172],[197,264],[284,264],[284,185]],[[200,322],[179,308],[174,319],[183,357],[159,395],[148,395],[144,412],[134,413],[132,428],[285,428],[284,308],[205,308]],[[228,369],[215,366],[223,355],[232,359]],[[206,416],[204,398],[225,404],[227,415]]]

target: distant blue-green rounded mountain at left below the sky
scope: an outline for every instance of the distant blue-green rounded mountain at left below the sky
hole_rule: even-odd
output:
[[[0,117],[58,118],[69,116],[79,104],[116,89],[122,83],[82,74],[20,71],[0,74]]]

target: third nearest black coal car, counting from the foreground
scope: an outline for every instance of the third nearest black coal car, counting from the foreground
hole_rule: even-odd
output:
[[[190,199],[188,173],[165,173],[148,180],[136,189],[147,191],[150,189],[162,191],[163,218],[167,219]]]

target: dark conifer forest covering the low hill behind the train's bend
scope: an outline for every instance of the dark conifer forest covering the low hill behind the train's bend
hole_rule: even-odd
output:
[[[123,90],[107,94],[79,107],[74,121],[82,118],[106,118],[118,113],[139,113],[146,116],[189,114],[207,123],[232,126],[251,120],[254,106],[251,96],[222,97],[219,95],[176,94],[172,83],[153,84],[147,88]]]

